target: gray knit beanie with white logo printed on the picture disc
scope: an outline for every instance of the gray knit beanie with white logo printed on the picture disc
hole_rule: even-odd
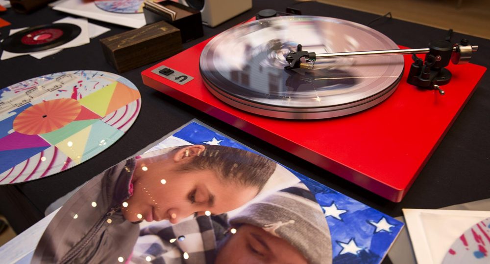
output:
[[[332,263],[332,242],[320,205],[308,188],[298,183],[253,202],[230,224],[262,227],[299,250],[310,264]]]

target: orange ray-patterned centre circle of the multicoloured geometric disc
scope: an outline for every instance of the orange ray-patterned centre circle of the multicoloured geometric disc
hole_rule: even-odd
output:
[[[81,105],[71,98],[61,98],[33,105],[14,120],[14,130],[27,134],[44,134],[72,122],[80,113]]]

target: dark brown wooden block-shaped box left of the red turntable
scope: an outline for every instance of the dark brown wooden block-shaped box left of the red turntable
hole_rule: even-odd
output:
[[[180,30],[161,21],[101,39],[107,62],[118,72],[128,71],[182,51]]]

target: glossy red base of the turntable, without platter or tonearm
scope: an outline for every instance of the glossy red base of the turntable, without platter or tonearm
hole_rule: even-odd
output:
[[[208,91],[199,73],[208,42],[146,69],[143,82],[394,202],[405,196],[486,70],[449,65],[453,77],[441,96],[406,83],[412,59],[405,55],[400,85],[379,105],[332,119],[282,120],[235,109]],[[165,67],[187,76],[172,81],[155,73]]]

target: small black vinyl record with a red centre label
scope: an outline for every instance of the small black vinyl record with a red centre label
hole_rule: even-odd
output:
[[[79,26],[69,23],[38,25],[5,38],[1,47],[3,50],[14,53],[41,51],[68,43],[81,31]]]

